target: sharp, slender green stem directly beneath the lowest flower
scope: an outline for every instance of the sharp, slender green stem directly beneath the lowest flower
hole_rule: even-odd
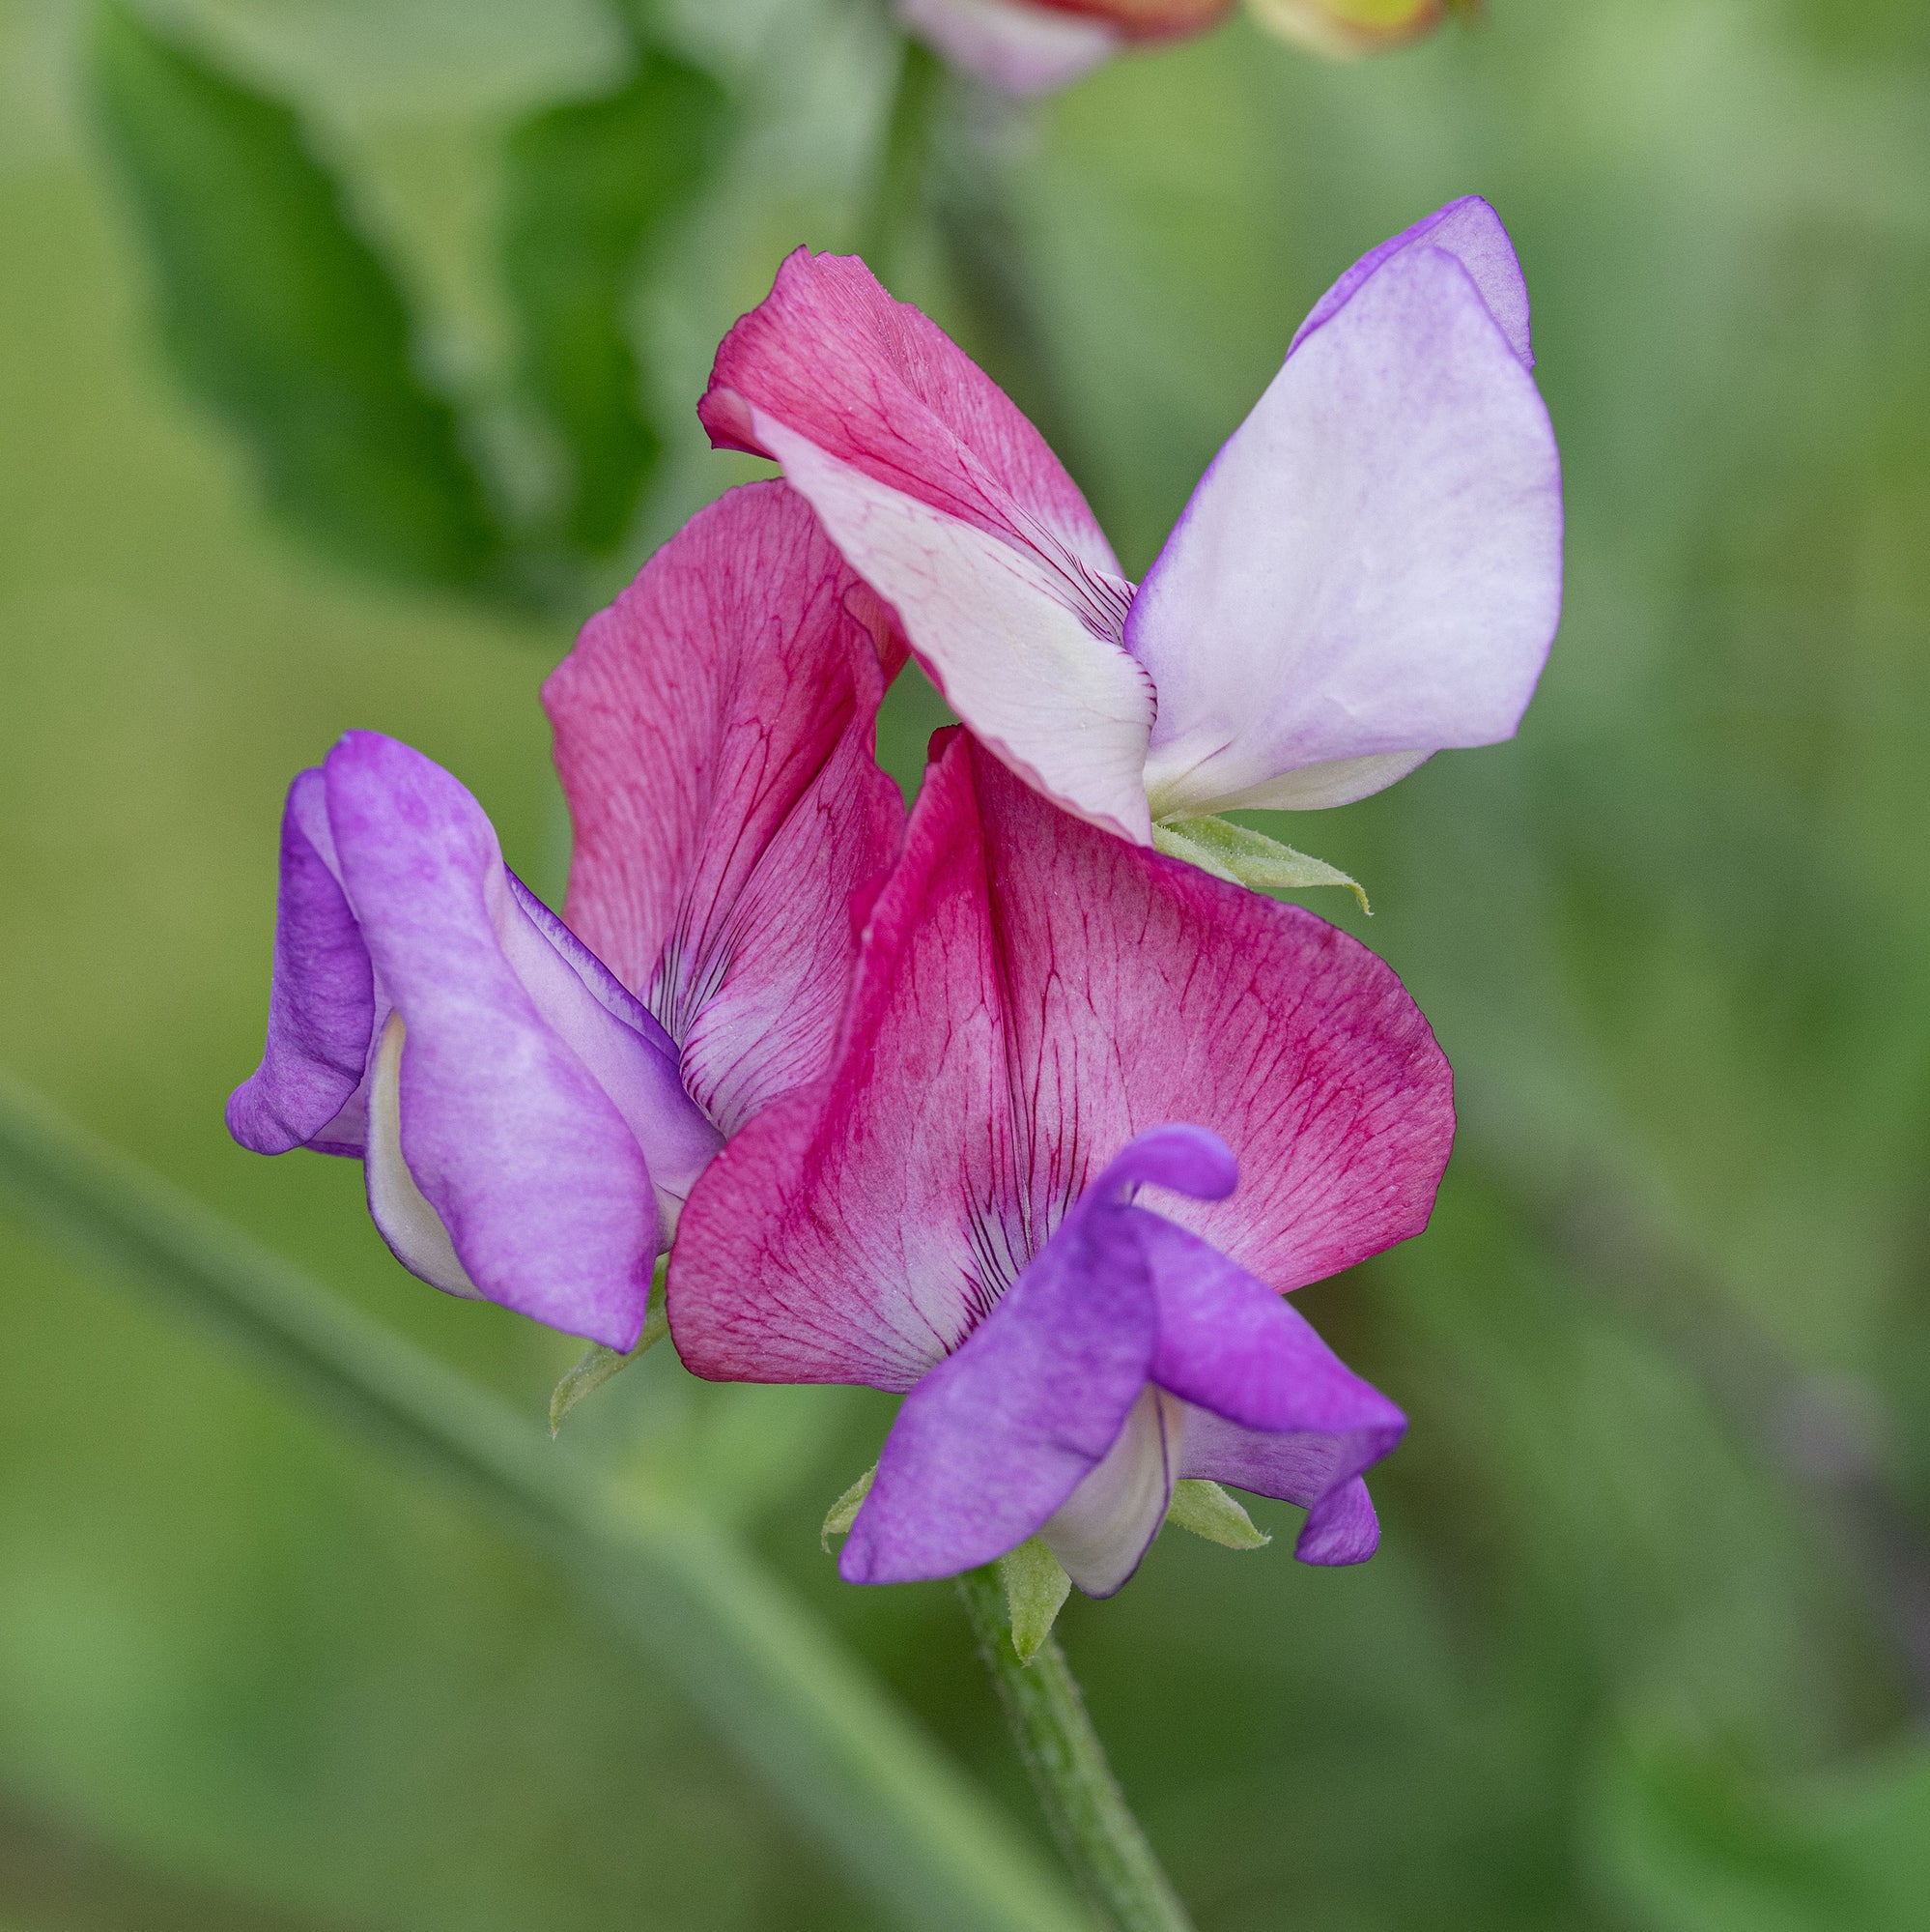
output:
[[[1039,1654],[1020,1663],[997,1565],[960,1577],[958,1594],[1032,1787],[1086,1897],[1119,1932],[1192,1932],[1105,1760],[1059,1638],[1047,1636]]]

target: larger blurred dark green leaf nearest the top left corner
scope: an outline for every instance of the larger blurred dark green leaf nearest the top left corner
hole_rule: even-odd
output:
[[[93,89],[168,352],[305,537],[390,576],[479,585],[502,551],[408,303],[296,114],[102,8]]]

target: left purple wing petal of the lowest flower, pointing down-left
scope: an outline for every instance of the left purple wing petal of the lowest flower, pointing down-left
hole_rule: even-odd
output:
[[[904,1399],[844,1542],[846,1582],[954,1577],[1016,1548],[1119,1439],[1157,1318],[1132,1209],[1074,1209]]]

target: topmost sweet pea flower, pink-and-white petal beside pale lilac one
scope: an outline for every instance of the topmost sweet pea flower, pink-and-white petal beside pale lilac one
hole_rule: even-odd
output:
[[[717,352],[972,734],[1136,842],[1377,792],[1509,738],[1561,609],[1561,473],[1507,232],[1466,197],[1362,257],[1134,589],[1037,431],[854,257],[794,253]]]

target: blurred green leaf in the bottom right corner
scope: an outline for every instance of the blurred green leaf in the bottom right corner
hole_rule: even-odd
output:
[[[1930,1750],[1774,1789],[1646,1743],[1604,1789],[1615,1884],[1658,1932],[1916,1932],[1930,1918]]]

